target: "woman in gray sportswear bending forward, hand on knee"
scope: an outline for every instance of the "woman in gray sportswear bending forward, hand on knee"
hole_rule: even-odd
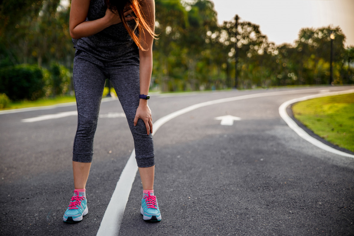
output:
[[[73,147],[75,190],[65,222],[81,221],[88,212],[85,185],[106,78],[114,86],[133,135],[144,189],[140,212],[144,220],[161,220],[153,191],[153,126],[147,104],[156,36],[154,4],[154,0],[72,0],[69,28],[76,48],[78,128]]]

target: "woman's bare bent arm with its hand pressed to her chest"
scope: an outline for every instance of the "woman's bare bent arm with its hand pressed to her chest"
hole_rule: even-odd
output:
[[[72,0],[70,8],[69,30],[73,39],[80,39],[91,36],[113,24],[121,22],[118,14],[109,9],[105,16],[94,21],[86,21],[91,0]],[[124,12],[124,16],[129,15],[132,10]],[[133,16],[125,17],[127,21],[134,19]]]

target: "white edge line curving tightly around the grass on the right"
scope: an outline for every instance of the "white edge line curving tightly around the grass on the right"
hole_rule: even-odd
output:
[[[301,138],[307,140],[308,142],[312,143],[313,145],[332,152],[334,154],[337,155],[341,155],[341,156],[346,156],[346,157],[352,157],[354,158],[354,155],[343,152],[343,151],[339,151],[335,148],[332,148],[324,143],[322,143],[321,141],[315,139],[314,137],[310,136],[306,131],[304,131],[302,128],[300,128],[297,123],[295,121],[293,121],[291,119],[291,117],[287,114],[286,112],[286,108],[296,102],[300,102],[300,101],[304,101],[304,100],[308,100],[311,98],[319,98],[319,97],[327,97],[327,96],[333,96],[333,95],[339,95],[339,94],[347,94],[347,93],[354,93],[354,90],[347,90],[347,91],[341,91],[341,92],[331,92],[331,93],[320,93],[320,94],[315,94],[315,95],[311,95],[311,96],[306,96],[306,97],[302,97],[302,98],[295,98],[295,99],[291,99],[289,101],[286,101],[285,103],[281,104],[279,107],[279,114],[281,116],[281,118],[289,125],[290,128],[293,129],[293,131],[295,131]]]

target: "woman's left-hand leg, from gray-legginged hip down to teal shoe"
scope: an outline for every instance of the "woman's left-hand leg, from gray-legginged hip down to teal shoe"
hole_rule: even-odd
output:
[[[79,53],[78,53],[79,52]],[[89,54],[78,51],[74,58],[73,79],[78,108],[78,128],[73,146],[74,196],[64,213],[63,221],[77,222],[88,213],[86,182],[93,156],[99,107],[104,88],[103,64]]]

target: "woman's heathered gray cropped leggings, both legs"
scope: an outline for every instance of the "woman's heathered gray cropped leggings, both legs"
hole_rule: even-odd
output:
[[[78,107],[78,128],[74,139],[73,161],[91,162],[93,137],[105,79],[109,78],[125,112],[133,135],[138,167],[150,167],[154,161],[154,142],[147,135],[143,120],[133,125],[139,105],[139,59],[106,62],[78,50],[75,53],[73,80]]]

